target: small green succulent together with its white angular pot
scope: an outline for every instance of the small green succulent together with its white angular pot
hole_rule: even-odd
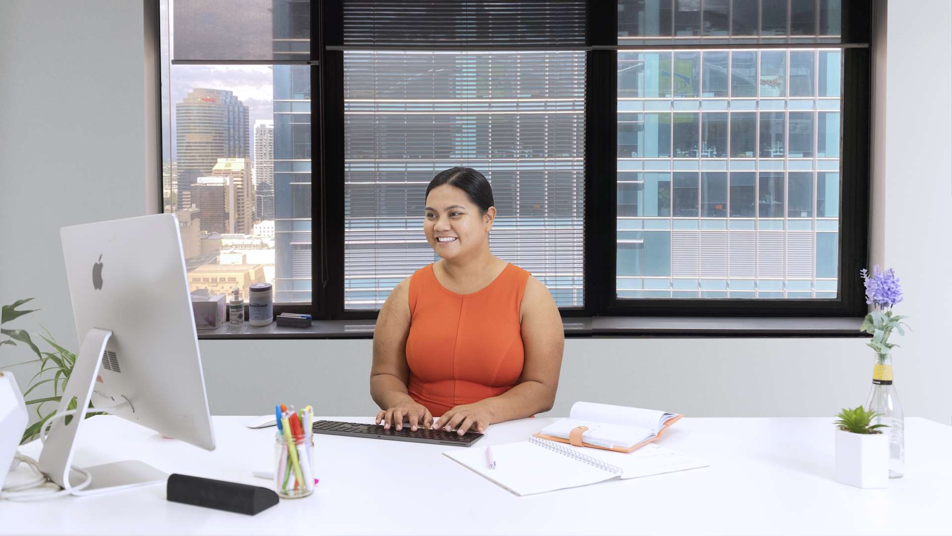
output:
[[[879,414],[862,405],[843,408],[836,428],[836,480],[856,487],[885,487],[889,481],[889,436],[873,424]]]

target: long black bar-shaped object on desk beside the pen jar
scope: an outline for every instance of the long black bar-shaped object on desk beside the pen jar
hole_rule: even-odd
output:
[[[169,475],[166,498],[173,503],[205,506],[251,516],[278,504],[278,494],[267,487],[177,473]]]

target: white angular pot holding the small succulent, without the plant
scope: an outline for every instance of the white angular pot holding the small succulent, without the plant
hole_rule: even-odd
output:
[[[836,480],[857,487],[889,482],[889,435],[854,434],[836,428]]]

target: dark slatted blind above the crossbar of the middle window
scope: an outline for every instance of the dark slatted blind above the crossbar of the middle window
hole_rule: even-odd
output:
[[[344,0],[344,46],[585,46],[585,0]]]

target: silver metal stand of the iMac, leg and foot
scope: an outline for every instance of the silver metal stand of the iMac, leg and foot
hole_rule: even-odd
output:
[[[50,425],[50,434],[47,436],[46,443],[43,444],[43,451],[40,453],[40,470],[52,482],[64,488],[67,482],[70,486],[76,486],[86,480],[85,475],[70,469],[70,466],[72,465],[76,434],[79,433],[80,425],[85,422],[81,412],[89,408],[92,388],[96,384],[96,376],[103,361],[106,343],[111,336],[111,331],[99,328],[92,328],[86,334],[83,343],[80,345],[79,353],[76,354],[76,362],[69,374],[66,389],[63,390],[63,398],[60,399],[60,405],[56,410],[57,413],[67,411],[69,401],[75,397],[76,414],[69,420],[69,424],[66,423],[64,418],[54,418],[54,423]],[[135,411],[134,407],[132,411]],[[106,438],[100,444],[109,445],[109,438]],[[74,491],[74,495],[118,491],[136,485],[166,482],[169,479],[168,474],[149,464],[137,461],[95,465],[83,467],[83,470],[89,472],[91,482],[82,490]]]

